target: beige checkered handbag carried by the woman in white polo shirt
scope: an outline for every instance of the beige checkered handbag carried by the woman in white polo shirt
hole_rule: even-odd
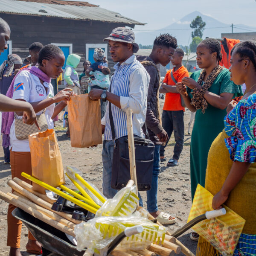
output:
[[[17,119],[15,114],[15,135],[17,140],[28,140],[29,135],[38,131],[46,131],[48,129],[48,124],[45,117],[45,109],[41,115],[36,116],[37,122],[41,130],[38,130],[37,126],[34,124],[28,125],[23,122],[23,119]]]

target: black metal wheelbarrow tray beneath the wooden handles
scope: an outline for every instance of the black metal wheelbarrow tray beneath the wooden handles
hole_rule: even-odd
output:
[[[55,229],[54,227],[46,224],[43,221],[38,220],[29,213],[16,208],[12,211],[12,215],[21,220],[32,235],[42,245],[43,256],[47,256],[50,253],[56,253],[58,256],[83,256],[85,250],[79,252],[76,246],[70,243],[64,232]]]

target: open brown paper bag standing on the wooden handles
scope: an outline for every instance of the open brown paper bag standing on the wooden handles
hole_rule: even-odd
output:
[[[61,152],[55,131],[47,129],[29,135],[29,147],[32,176],[54,187],[65,184]],[[45,189],[35,183],[33,190],[45,194]]]

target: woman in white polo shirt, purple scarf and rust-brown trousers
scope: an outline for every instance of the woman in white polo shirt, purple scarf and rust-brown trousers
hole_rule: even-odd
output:
[[[51,79],[57,78],[63,72],[64,61],[65,57],[60,48],[52,44],[44,46],[39,52],[39,66],[20,70],[6,94],[12,99],[29,102],[37,115],[40,115],[45,109],[49,129],[53,128],[54,117],[67,105],[66,101],[70,99],[71,95],[70,89],[64,89],[53,96]],[[57,102],[60,103],[55,106]],[[22,117],[22,112],[16,113],[18,117]],[[29,140],[17,140],[13,112],[9,113],[5,132],[10,134],[12,178],[18,177],[29,182],[21,176],[21,172],[24,170],[32,175]],[[7,245],[11,247],[10,256],[21,256],[20,233],[22,222],[12,216],[13,209],[15,209],[15,206],[9,204]],[[41,245],[35,241],[31,233],[29,233],[28,239],[27,252],[40,254]]]

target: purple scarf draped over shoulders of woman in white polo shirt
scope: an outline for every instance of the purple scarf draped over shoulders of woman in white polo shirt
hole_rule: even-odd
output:
[[[29,73],[37,76],[39,79],[41,79],[44,82],[50,83],[51,79],[49,78],[49,76],[47,76],[46,73],[44,73],[42,70],[40,70],[38,67],[26,67],[23,68],[22,70],[20,70],[17,75],[22,72],[23,70],[27,70],[29,71]],[[17,76],[16,75],[16,76]],[[15,76],[15,77],[16,77]],[[12,98],[13,96],[13,87],[14,87],[14,83],[15,83],[15,78],[12,80],[12,83],[6,93],[6,96],[9,98]],[[10,134],[10,130],[11,130],[11,126],[14,120],[14,112],[3,112],[2,113],[2,133],[9,135]],[[6,136],[3,136],[3,139],[6,138]],[[10,142],[8,139],[6,139],[6,141],[3,141],[3,146],[7,147],[10,145]]]

